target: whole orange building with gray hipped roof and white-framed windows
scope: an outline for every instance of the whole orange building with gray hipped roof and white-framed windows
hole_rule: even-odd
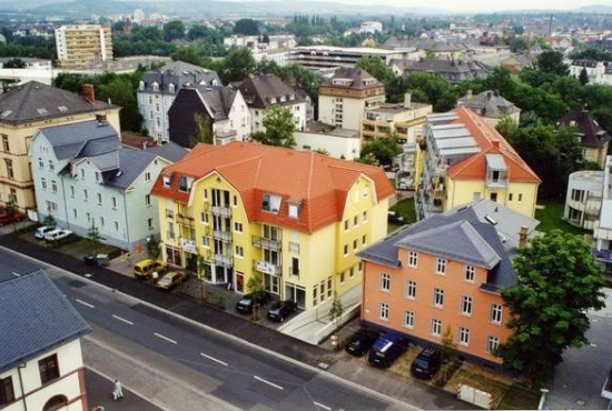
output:
[[[511,333],[501,290],[516,283],[511,255],[536,225],[480,200],[393,233],[358,254],[362,321],[421,345],[450,335],[460,355],[499,364],[492,352]]]

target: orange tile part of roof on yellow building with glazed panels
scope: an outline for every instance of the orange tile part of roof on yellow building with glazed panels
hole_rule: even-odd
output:
[[[448,176],[455,180],[482,180],[486,178],[486,154],[502,154],[510,170],[510,181],[540,183],[542,180],[533,172],[527,163],[510,146],[494,127],[482,117],[465,107],[454,110],[458,116],[455,123],[464,124],[478,146],[481,151],[448,169]]]

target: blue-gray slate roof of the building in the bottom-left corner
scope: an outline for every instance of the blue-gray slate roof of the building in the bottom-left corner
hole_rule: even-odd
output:
[[[42,271],[0,282],[0,373],[91,332]]]

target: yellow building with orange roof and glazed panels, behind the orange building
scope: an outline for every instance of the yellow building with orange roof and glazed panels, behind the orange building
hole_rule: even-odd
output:
[[[478,199],[533,218],[541,182],[503,136],[465,107],[427,117],[415,181],[419,219]]]

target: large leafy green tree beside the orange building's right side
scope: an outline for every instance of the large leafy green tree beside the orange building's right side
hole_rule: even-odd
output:
[[[535,385],[563,360],[566,348],[588,342],[586,310],[604,307],[603,277],[591,244],[560,230],[521,249],[514,269],[516,285],[502,290],[513,334],[496,354]]]

